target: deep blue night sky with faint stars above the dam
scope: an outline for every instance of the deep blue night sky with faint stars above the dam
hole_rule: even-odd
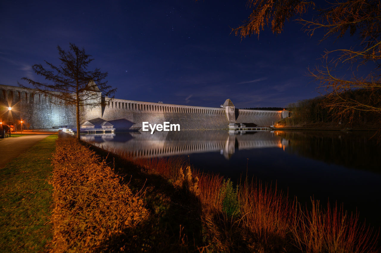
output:
[[[35,76],[31,66],[59,64],[57,45],[84,47],[92,68],[107,71],[115,98],[219,107],[285,107],[318,96],[308,66],[333,39],[318,44],[290,22],[241,41],[231,33],[246,1],[2,1],[0,84]],[[308,17],[312,13],[308,13]],[[348,40],[347,38],[343,40]],[[342,40],[342,41],[343,41]],[[342,43],[341,41],[341,43]]]

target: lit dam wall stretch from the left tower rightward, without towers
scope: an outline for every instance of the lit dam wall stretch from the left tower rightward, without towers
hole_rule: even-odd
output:
[[[257,126],[270,126],[284,117],[288,117],[288,111],[285,114],[283,111],[234,108],[234,112],[236,123],[254,123]],[[102,119],[107,121],[126,119],[130,121],[132,128],[141,128],[143,121],[151,124],[162,124],[163,122],[180,124],[181,129],[184,130],[226,129],[229,125],[226,108],[183,106],[118,99],[107,101],[107,98]]]

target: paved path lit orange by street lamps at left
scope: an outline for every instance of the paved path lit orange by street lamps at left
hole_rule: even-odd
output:
[[[50,134],[35,134],[0,140],[0,169],[49,135]]]

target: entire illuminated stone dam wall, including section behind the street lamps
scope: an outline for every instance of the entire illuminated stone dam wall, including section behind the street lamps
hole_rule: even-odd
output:
[[[9,122],[6,107],[13,107],[11,117],[23,128],[75,128],[75,107],[60,106],[51,96],[31,92],[21,87],[0,85],[0,121]],[[232,116],[233,115],[233,116]],[[252,123],[270,126],[288,117],[288,111],[260,111],[235,109],[234,106],[210,108],[176,104],[150,103],[102,97],[102,106],[84,109],[81,122],[102,118],[116,130],[140,129],[142,122],[179,124],[181,130],[227,129],[229,123]],[[19,126],[18,126],[19,128]]]

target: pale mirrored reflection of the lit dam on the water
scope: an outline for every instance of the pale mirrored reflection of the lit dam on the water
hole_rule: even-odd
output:
[[[288,141],[268,131],[229,134],[228,131],[131,132],[84,134],[85,141],[98,143],[103,149],[124,150],[139,158],[219,152],[229,159],[236,150],[283,148]]]

